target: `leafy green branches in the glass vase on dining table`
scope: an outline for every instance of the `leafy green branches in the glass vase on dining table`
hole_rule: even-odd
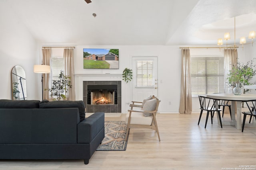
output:
[[[255,58],[251,61],[248,61],[246,64],[237,63],[237,66],[233,66],[228,73],[228,84],[229,86],[238,86],[242,87],[245,85],[255,84],[251,83],[250,80],[256,75],[256,65],[253,64]],[[249,89],[244,89],[244,93],[250,91]]]

